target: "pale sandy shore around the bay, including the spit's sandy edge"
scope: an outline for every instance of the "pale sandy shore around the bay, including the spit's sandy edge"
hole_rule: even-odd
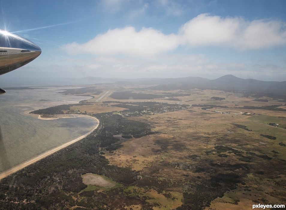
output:
[[[31,113],[28,113],[28,114],[31,114]],[[85,116],[88,116],[88,115],[85,115]],[[83,116],[79,115],[79,117],[83,117]],[[91,117],[91,116],[88,116],[88,117]],[[56,119],[60,119],[60,118],[71,118],[71,117],[60,116],[60,117],[48,117],[48,118],[45,118],[45,117],[42,117],[40,114],[38,116],[38,119],[41,119],[41,120],[56,120]],[[96,117],[92,117],[92,118],[94,118],[97,121],[97,124],[91,131],[87,132],[86,134],[84,134],[84,135],[82,135],[82,136],[80,136],[80,137],[78,137],[76,139],[73,139],[73,140],[71,140],[71,141],[69,141],[67,143],[64,143],[64,144],[62,144],[62,145],[60,145],[60,146],[58,146],[56,148],[53,148],[53,149],[51,149],[49,151],[46,151],[46,152],[38,155],[37,157],[34,157],[34,158],[30,159],[30,160],[27,160],[24,163],[21,163],[21,164],[15,166],[15,167],[13,167],[13,168],[11,168],[9,170],[6,170],[6,171],[0,173],[0,180],[5,178],[5,177],[7,177],[7,176],[9,176],[9,175],[11,175],[11,174],[13,174],[13,173],[15,173],[15,172],[17,172],[17,171],[19,171],[20,169],[25,168],[26,166],[29,166],[29,165],[31,165],[31,164],[33,164],[33,163],[35,163],[35,162],[45,158],[45,157],[47,157],[47,156],[49,156],[49,155],[51,155],[51,154],[53,154],[53,153],[55,153],[55,152],[65,148],[65,147],[67,147],[67,146],[69,146],[69,145],[71,145],[71,144],[73,144],[73,143],[75,143],[75,142],[85,138],[89,134],[91,134],[95,129],[97,129],[97,127],[100,124],[100,121]]]

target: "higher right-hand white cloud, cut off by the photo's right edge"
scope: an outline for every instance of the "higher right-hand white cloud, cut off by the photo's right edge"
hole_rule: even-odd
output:
[[[286,24],[275,20],[250,22],[238,17],[201,14],[185,23],[179,35],[190,46],[262,49],[286,44]]]

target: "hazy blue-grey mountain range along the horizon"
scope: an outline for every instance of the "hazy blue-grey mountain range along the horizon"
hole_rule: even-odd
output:
[[[87,78],[85,78],[87,79]],[[92,80],[103,78],[89,77]],[[188,90],[191,88],[225,90],[225,91],[245,91],[257,93],[261,96],[272,96],[277,98],[286,98],[286,81],[260,81],[255,79],[242,79],[234,75],[225,75],[220,78],[210,80],[201,77],[184,78],[140,78],[140,79],[121,79],[104,78],[115,82],[115,84],[138,84],[138,85],[156,85],[148,87],[150,90]],[[146,89],[146,88],[145,88]]]

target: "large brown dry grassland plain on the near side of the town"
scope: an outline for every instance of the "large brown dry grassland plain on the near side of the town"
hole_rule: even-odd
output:
[[[268,110],[229,110],[285,116],[284,112]],[[214,149],[216,145],[225,145],[243,151],[243,153],[253,152],[258,155],[267,155],[273,159],[253,160],[252,166],[249,166],[251,168],[249,174],[243,179],[246,185],[239,184],[235,190],[228,191],[222,198],[213,200],[210,208],[207,209],[248,209],[252,208],[255,198],[256,200],[265,198],[273,204],[281,203],[279,195],[286,196],[286,190],[277,182],[281,183],[285,179],[282,177],[285,169],[279,171],[275,165],[281,164],[276,158],[286,159],[285,148],[278,145],[279,142],[285,141],[286,130],[247,120],[251,116],[233,116],[234,114],[212,112],[201,114],[202,111],[201,108],[195,107],[183,111],[131,117],[133,120],[151,123],[154,131],[163,134],[127,140],[122,144],[123,147],[114,151],[113,154],[106,154],[106,157],[111,164],[130,166],[134,170],[141,170],[143,174],[156,174],[156,177],[168,179],[174,185],[165,190],[182,192],[183,183],[209,179],[209,174],[206,172],[194,172],[194,169],[202,163],[204,163],[202,167],[207,167],[209,163],[245,164],[239,160],[239,156],[233,153],[225,152],[222,154],[227,155],[227,158],[219,157]],[[238,128],[231,123],[246,125],[252,131]],[[261,133],[275,135],[277,139],[261,137]],[[278,151],[279,154],[271,152],[273,150]],[[207,151],[211,152],[207,154]],[[266,172],[264,175],[258,175],[255,173],[256,170]],[[274,170],[276,170],[276,180],[270,181],[267,173],[273,174]],[[241,169],[236,169],[234,172],[243,173]],[[273,176],[274,174],[270,177]],[[267,187],[261,188],[261,185]],[[277,194],[277,191],[280,194]]]

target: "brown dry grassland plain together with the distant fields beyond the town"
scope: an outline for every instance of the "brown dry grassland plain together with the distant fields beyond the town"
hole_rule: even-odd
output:
[[[126,91],[132,88],[133,86],[124,86],[112,91]],[[134,186],[124,190],[128,196],[147,196],[149,197],[147,202],[158,204],[153,209],[172,209],[182,205],[183,189],[186,186],[193,185],[196,189],[202,183],[208,183],[217,174],[235,173],[241,179],[236,188],[225,190],[222,197],[214,197],[210,207],[206,209],[251,209],[254,203],[281,204],[283,200],[285,201],[286,169],[283,160],[286,160],[286,147],[280,146],[279,142],[286,143],[286,130],[269,126],[267,121],[276,120],[277,123],[284,123],[283,117],[286,117],[286,112],[235,108],[284,105],[285,102],[277,102],[273,99],[268,99],[268,102],[253,101],[255,98],[217,90],[137,92],[189,93],[190,96],[176,98],[189,104],[226,105],[230,108],[225,109],[234,113],[219,114],[202,110],[201,107],[193,107],[162,114],[129,117],[132,120],[150,123],[152,130],[159,133],[128,139],[121,143],[122,147],[119,149],[104,154],[111,165],[130,167],[139,172],[141,178],[134,183]],[[211,99],[213,96],[222,97],[225,100],[216,101]],[[165,99],[115,100],[108,96],[105,100],[167,101]],[[177,101],[169,102],[177,103]],[[110,108],[116,109],[112,111],[121,109],[93,106],[94,108],[83,107],[84,110],[93,113],[97,107],[100,110],[97,113]],[[75,109],[77,109],[76,106]],[[220,111],[219,108],[213,110]],[[260,115],[236,115],[237,112]],[[245,125],[251,131],[231,123]],[[260,134],[273,135],[276,139],[271,140]],[[219,147],[228,149],[219,151]],[[231,168],[237,165],[241,167]],[[164,193],[169,193],[175,199],[169,199]],[[141,209],[142,205],[126,205],[124,208]]]

